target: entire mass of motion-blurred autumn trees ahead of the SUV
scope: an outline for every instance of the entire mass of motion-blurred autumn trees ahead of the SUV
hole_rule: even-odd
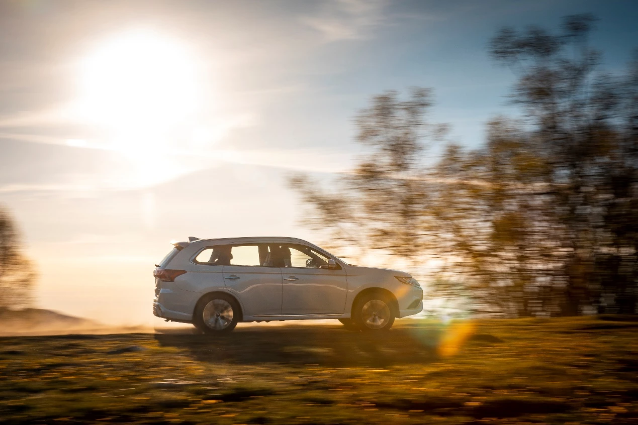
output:
[[[375,97],[357,117],[368,150],[352,172],[329,192],[292,178],[308,221],[414,265],[438,256],[435,286],[455,282],[477,312],[636,312],[638,66],[596,73],[593,22],[498,32],[491,54],[517,73],[524,117],[494,120],[484,147],[450,145],[434,165],[422,153],[444,127],[425,119],[429,91]]]

